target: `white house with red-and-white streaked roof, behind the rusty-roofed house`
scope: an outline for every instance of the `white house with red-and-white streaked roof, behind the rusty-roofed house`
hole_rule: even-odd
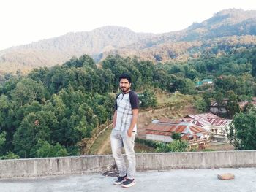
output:
[[[213,134],[213,138],[219,141],[225,141],[227,134],[225,134],[225,128],[228,128],[232,120],[220,118],[211,112],[201,113],[196,115],[187,115],[182,120],[193,123],[196,126],[200,126],[206,131],[210,131]]]

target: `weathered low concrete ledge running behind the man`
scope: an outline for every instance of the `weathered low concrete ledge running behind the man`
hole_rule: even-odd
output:
[[[256,150],[138,153],[137,170],[215,169],[256,167]],[[47,175],[86,174],[110,170],[112,155],[84,155],[63,158],[29,158],[0,161],[0,177],[39,177]]]

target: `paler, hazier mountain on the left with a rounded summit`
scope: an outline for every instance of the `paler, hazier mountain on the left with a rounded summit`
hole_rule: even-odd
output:
[[[44,39],[29,45],[11,47],[0,51],[0,66],[30,69],[35,66],[62,64],[72,56],[99,53],[118,49],[141,39],[154,37],[154,34],[135,33],[129,28],[105,26],[89,32],[65,34],[61,37]]]

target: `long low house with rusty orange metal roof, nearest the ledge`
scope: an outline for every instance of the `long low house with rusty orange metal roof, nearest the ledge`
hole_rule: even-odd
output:
[[[146,139],[172,142],[172,134],[181,134],[181,139],[187,140],[189,144],[195,145],[203,143],[205,144],[209,140],[209,132],[200,126],[196,126],[193,123],[185,122],[184,120],[173,120],[163,118],[160,120],[154,120],[146,128]]]

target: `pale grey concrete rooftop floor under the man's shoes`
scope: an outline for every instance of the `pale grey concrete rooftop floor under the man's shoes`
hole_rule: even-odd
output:
[[[233,173],[234,180],[218,180],[217,174]],[[113,185],[116,177],[83,174],[31,179],[1,179],[1,192],[50,191],[146,191],[146,192],[255,192],[256,168],[179,169],[137,172],[137,184],[131,188]]]

